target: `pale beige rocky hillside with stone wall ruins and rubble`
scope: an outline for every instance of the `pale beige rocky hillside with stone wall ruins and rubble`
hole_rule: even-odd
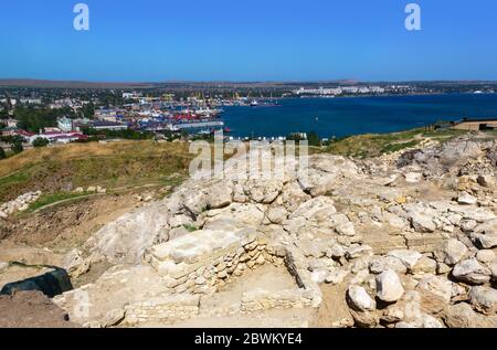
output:
[[[369,160],[314,155],[308,177],[268,181],[235,180],[230,159],[225,180],[187,180],[86,242],[91,263],[147,268],[154,288],[83,321],[200,317],[204,296],[271,264],[296,287],[251,290],[212,315],[319,308],[330,284],[346,287],[357,327],[497,327],[496,150],[466,136]],[[131,271],[108,278],[130,284]],[[56,300],[71,314],[70,295]]]

